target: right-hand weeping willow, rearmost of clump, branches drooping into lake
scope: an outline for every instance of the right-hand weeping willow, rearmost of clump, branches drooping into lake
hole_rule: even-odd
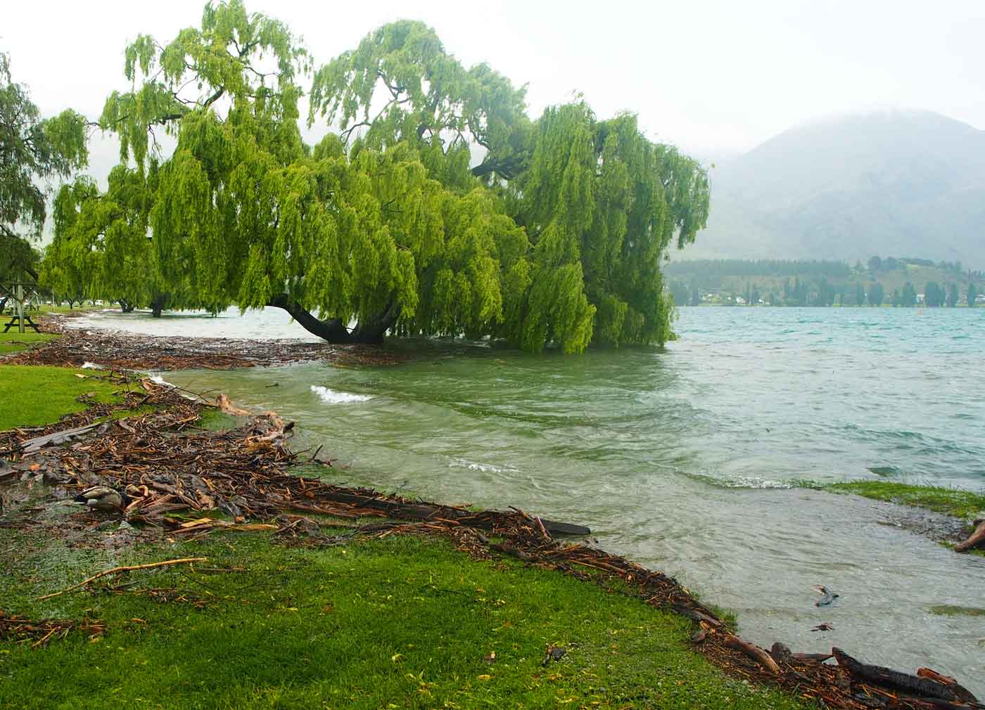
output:
[[[647,140],[631,114],[599,121],[578,100],[530,121],[524,94],[485,64],[464,68],[427,26],[403,21],[315,73],[309,121],[358,136],[354,150],[410,143],[447,189],[480,180],[497,196],[528,244],[500,264],[507,295],[491,335],[532,352],[663,344],[673,300],[661,265],[673,242],[683,247],[705,226],[706,173]],[[427,288],[469,282],[468,270],[451,271]],[[428,332],[420,319],[402,326]]]

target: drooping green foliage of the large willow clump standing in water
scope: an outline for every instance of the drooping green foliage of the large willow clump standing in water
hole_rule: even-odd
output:
[[[276,305],[333,342],[491,336],[577,353],[671,337],[661,265],[707,218],[695,161],[580,100],[531,121],[524,89],[464,68],[415,22],[314,72],[308,122],[340,132],[309,147],[310,68],[287,28],[236,0],[167,45],[139,37],[134,89],[100,119],[131,166],[103,194],[65,188],[56,242],[71,246],[55,261],[146,300],[112,282],[127,253],[172,304]],[[177,140],[160,164],[157,128]]]

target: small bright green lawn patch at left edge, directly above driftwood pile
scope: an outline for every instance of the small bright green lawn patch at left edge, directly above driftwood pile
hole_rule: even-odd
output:
[[[114,401],[120,385],[93,378],[98,370],[0,364],[0,431],[15,426],[39,426],[81,412],[79,395],[93,392],[99,402]],[[83,375],[84,377],[78,377]]]

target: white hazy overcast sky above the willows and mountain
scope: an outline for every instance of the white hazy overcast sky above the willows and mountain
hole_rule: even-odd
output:
[[[45,114],[95,118],[125,89],[123,48],[198,25],[201,0],[5,3],[0,50]],[[316,63],[379,25],[420,19],[464,64],[529,84],[531,112],[584,94],[639,113],[652,138],[704,158],[791,125],[873,107],[923,108],[985,128],[983,0],[300,2],[247,0],[303,36]]]

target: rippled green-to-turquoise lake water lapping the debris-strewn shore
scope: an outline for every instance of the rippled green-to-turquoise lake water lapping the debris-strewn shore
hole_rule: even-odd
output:
[[[304,337],[239,318],[103,314],[157,334]],[[751,640],[930,666],[985,693],[985,558],[802,480],[985,489],[985,309],[683,308],[664,352],[524,355],[412,344],[385,368],[168,373],[296,420],[338,480],[585,523],[734,610]],[[277,387],[271,387],[274,383]],[[841,597],[819,610],[812,585]],[[828,621],[834,631],[812,632]]]

